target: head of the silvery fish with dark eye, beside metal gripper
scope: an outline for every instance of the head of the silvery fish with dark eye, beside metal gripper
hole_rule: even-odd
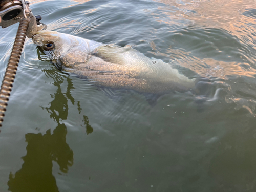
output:
[[[65,67],[86,62],[90,46],[87,39],[56,31],[39,31],[32,40],[44,53],[42,60],[51,60]]]

